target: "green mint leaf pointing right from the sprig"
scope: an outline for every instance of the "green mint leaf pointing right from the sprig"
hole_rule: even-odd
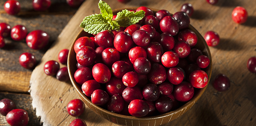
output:
[[[134,13],[125,9],[117,13],[115,21],[119,24],[119,26],[127,27],[139,22],[139,20],[141,20],[144,16],[145,12],[143,10]]]

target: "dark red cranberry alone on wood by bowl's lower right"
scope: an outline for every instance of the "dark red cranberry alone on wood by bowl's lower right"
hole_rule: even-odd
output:
[[[229,78],[224,74],[218,74],[213,82],[213,87],[217,91],[226,91],[230,87]]]

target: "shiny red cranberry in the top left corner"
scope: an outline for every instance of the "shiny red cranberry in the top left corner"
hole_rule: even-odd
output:
[[[16,0],[7,0],[4,3],[4,10],[7,14],[16,15],[19,13],[20,5]]]

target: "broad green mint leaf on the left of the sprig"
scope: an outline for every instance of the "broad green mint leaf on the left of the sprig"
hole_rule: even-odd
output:
[[[111,30],[112,28],[108,20],[103,18],[102,14],[92,14],[85,17],[80,27],[84,28],[84,31],[90,34],[97,34],[103,30]]]

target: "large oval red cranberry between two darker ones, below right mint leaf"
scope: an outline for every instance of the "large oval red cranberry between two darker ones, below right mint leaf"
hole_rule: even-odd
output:
[[[114,47],[121,53],[128,52],[133,46],[133,40],[129,33],[119,32],[114,39]]]

